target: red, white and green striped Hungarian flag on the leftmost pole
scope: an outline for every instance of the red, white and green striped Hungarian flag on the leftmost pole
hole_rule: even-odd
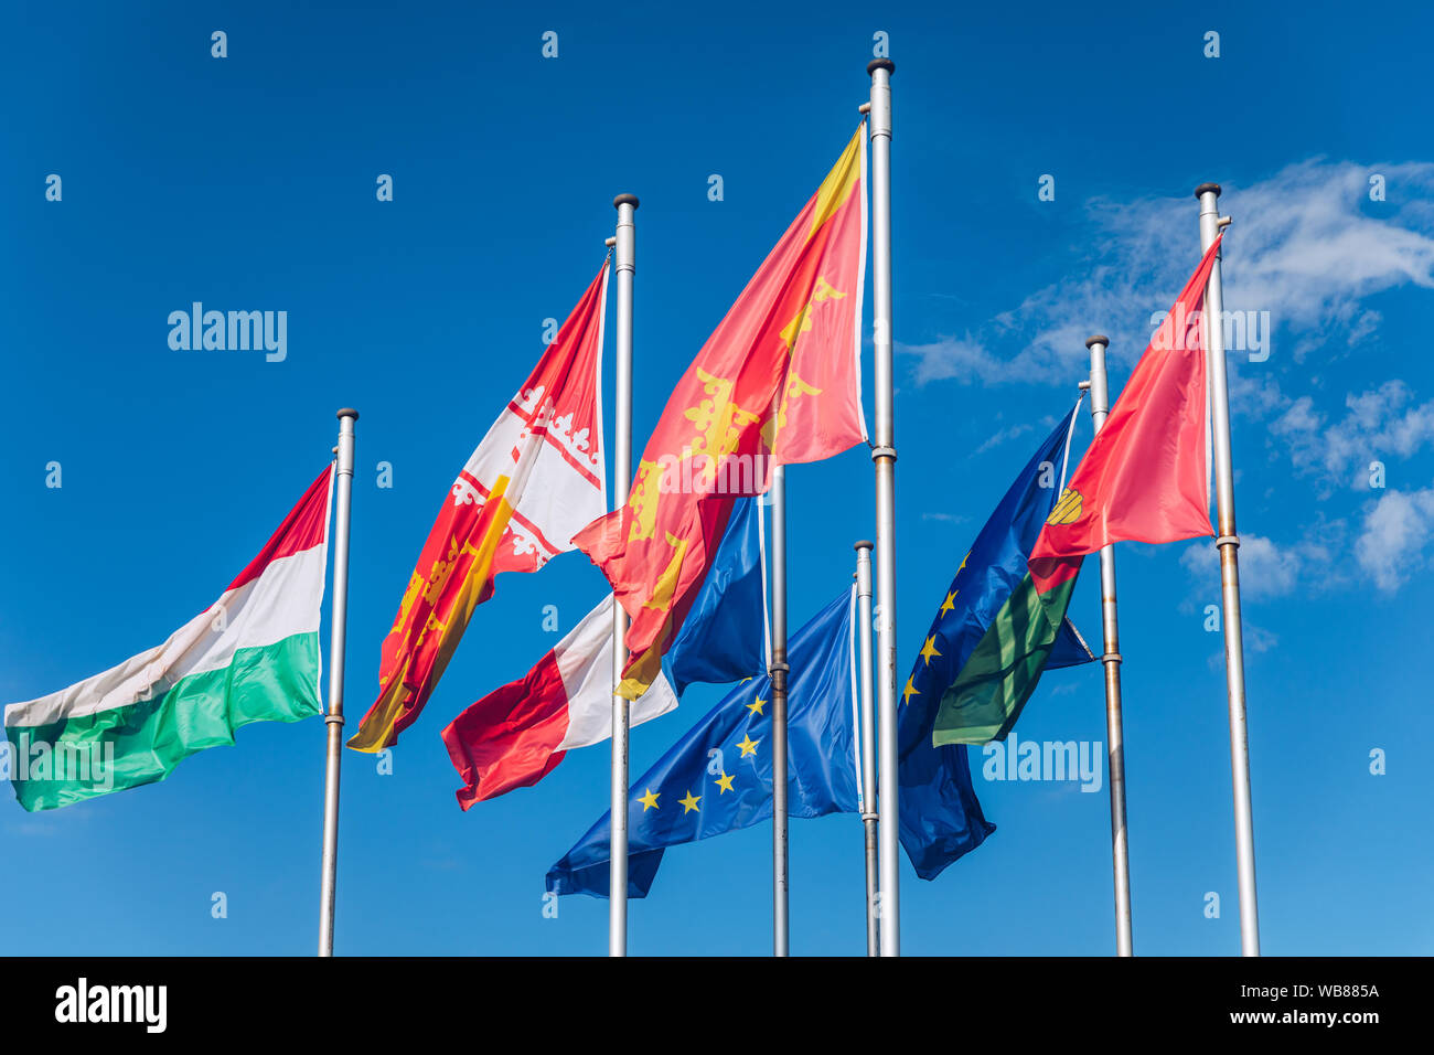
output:
[[[219,600],[148,652],[69,689],[4,709],[10,782],[54,810],[162,781],[250,722],[321,711],[318,609],[333,468],[315,479]]]

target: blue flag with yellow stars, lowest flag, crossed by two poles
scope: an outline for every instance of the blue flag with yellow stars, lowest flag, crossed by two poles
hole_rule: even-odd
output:
[[[856,812],[852,603],[843,591],[787,649],[787,812]],[[548,871],[548,890],[608,896],[611,811]],[[771,817],[771,682],[734,688],[657,764],[628,798],[628,897],[645,897],[663,853],[678,843]]]

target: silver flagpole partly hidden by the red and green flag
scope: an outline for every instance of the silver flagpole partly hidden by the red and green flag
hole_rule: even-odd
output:
[[[1096,432],[1110,412],[1110,383],[1106,378],[1106,347],[1110,337],[1086,342],[1090,349],[1090,418]],[[1100,551],[1100,622],[1106,650],[1106,739],[1110,765],[1110,853],[1116,874],[1116,955],[1134,956],[1130,930],[1130,847],[1126,830],[1126,731],[1120,712],[1120,627],[1116,622],[1116,550]]]

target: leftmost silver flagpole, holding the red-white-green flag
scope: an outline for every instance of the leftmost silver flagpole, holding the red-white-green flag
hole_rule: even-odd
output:
[[[334,887],[338,877],[338,764],[344,752],[344,627],[348,623],[348,507],[354,485],[354,422],[338,412],[338,465],[334,471],[334,603],[328,626],[328,749],[324,762],[324,850],[318,880],[318,955],[334,955]]]

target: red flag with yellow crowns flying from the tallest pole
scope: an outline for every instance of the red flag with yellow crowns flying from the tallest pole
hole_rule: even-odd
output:
[[[866,126],[782,235],[677,383],[627,505],[575,540],[632,617],[625,677],[641,696],[707,578],[737,495],[771,468],[866,439],[860,319]]]

